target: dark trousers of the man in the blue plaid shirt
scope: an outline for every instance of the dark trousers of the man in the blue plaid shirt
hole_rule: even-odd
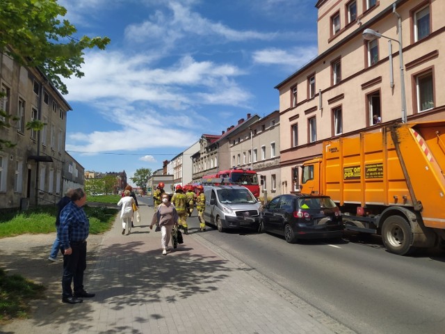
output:
[[[72,296],[73,281],[74,294],[83,291],[83,271],[86,269],[86,241],[71,242],[70,245],[71,255],[63,255],[62,296],[65,298]]]

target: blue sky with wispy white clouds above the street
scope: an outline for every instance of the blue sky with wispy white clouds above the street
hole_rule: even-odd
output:
[[[202,134],[267,116],[274,87],[317,55],[315,0],[58,3],[74,37],[111,38],[64,80],[66,150],[86,170],[154,171]]]

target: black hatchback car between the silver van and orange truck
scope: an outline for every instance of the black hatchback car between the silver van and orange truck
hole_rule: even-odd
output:
[[[329,196],[280,195],[262,209],[259,232],[297,239],[338,239],[343,235],[341,211]]]

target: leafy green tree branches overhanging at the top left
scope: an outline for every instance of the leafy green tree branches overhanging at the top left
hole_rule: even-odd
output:
[[[0,0],[0,52],[29,67],[39,67],[61,93],[67,94],[62,78],[83,77],[83,50],[105,49],[108,37],[76,37],[76,27],[67,19],[67,10],[56,0]],[[3,98],[0,96],[0,98]],[[0,110],[0,116],[10,116]],[[8,127],[0,123],[0,129]],[[42,122],[26,125],[28,129],[42,129]],[[14,143],[0,141],[10,147]]]

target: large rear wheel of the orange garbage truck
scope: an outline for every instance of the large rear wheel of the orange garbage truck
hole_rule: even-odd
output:
[[[382,241],[390,253],[407,255],[414,250],[411,225],[401,216],[389,216],[382,226]]]

